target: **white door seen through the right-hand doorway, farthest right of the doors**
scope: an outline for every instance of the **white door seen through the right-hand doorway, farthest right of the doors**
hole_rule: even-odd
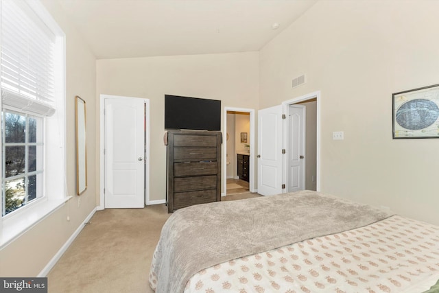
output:
[[[288,111],[287,191],[305,187],[305,106],[291,105]]]

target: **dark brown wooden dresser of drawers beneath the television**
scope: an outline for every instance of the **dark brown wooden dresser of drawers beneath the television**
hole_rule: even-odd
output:
[[[167,133],[167,209],[221,200],[221,132]]]

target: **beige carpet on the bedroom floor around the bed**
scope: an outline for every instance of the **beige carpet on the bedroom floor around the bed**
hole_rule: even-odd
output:
[[[258,194],[223,196],[239,200]],[[47,275],[49,293],[151,293],[152,254],[167,218],[165,204],[97,211]]]

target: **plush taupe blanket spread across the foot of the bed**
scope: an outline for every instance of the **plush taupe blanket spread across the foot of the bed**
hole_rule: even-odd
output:
[[[163,226],[150,285],[157,293],[183,292],[193,274],[217,263],[366,226],[390,215],[315,191],[180,209]]]

